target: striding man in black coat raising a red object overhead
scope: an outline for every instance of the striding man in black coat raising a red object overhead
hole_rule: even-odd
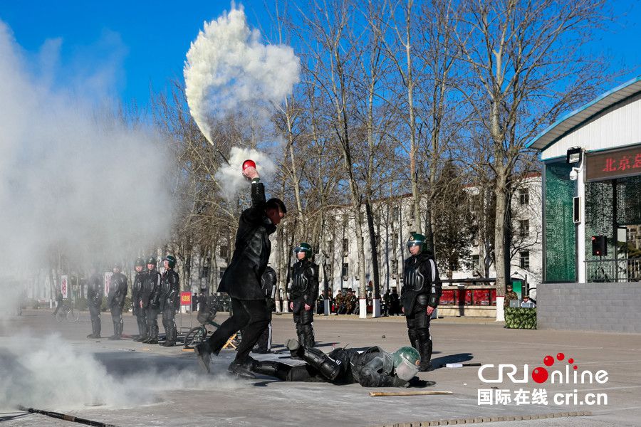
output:
[[[229,337],[242,329],[243,339],[237,349],[236,359],[227,370],[238,376],[255,378],[244,362],[269,325],[261,278],[271,253],[269,235],[276,231],[287,209],[280,199],[265,201],[265,186],[256,168],[247,167],[243,175],[251,179],[251,207],[241,214],[234,255],[218,287],[219,292],[227,292],[231,297],[233,315],[194,350],[202,369],[209,372],[211,355],[218,354]]]

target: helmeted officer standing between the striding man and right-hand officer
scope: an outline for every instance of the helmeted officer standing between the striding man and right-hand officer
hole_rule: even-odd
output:
[[[294,249],[298,261],[293,265],[289,289],[289,308],[293,312],[298,342],[314,347],[314,305],[318,296],[318,265],[311,261],[312,250],[308,243]]]

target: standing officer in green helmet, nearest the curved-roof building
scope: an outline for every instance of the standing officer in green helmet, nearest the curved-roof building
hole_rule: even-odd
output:
[[[439,305],[441,279],[434,257],[427,251],[425,236],[412,233],[407,240],[410,258],[403,266],[401,300],[412,347],[421,354],[421,371],[432,370],[432,337],[429,320]]]

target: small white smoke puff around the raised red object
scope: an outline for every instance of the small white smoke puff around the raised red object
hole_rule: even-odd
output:
[[[270,157],[256,149],[231,147],[229,164],[224,163],[216,172],[216,179],[224,183],[222,195],[227,200],[234,200],[241,192],[247,191],[247,181],[242,176],[242,165],[247,159],[256,162],[256,171],[261,176],[261,181],[271,181],[276,172],[276,165]]]

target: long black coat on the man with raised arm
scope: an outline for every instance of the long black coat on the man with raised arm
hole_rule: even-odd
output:
[[[276,226],[265,214],[265,186],[251,184],[251,208],[241,214],[231,263],[225,270],[219,292],[239,300],[264,300],[261,277],[267,268],[271,242],[269,235]]]

